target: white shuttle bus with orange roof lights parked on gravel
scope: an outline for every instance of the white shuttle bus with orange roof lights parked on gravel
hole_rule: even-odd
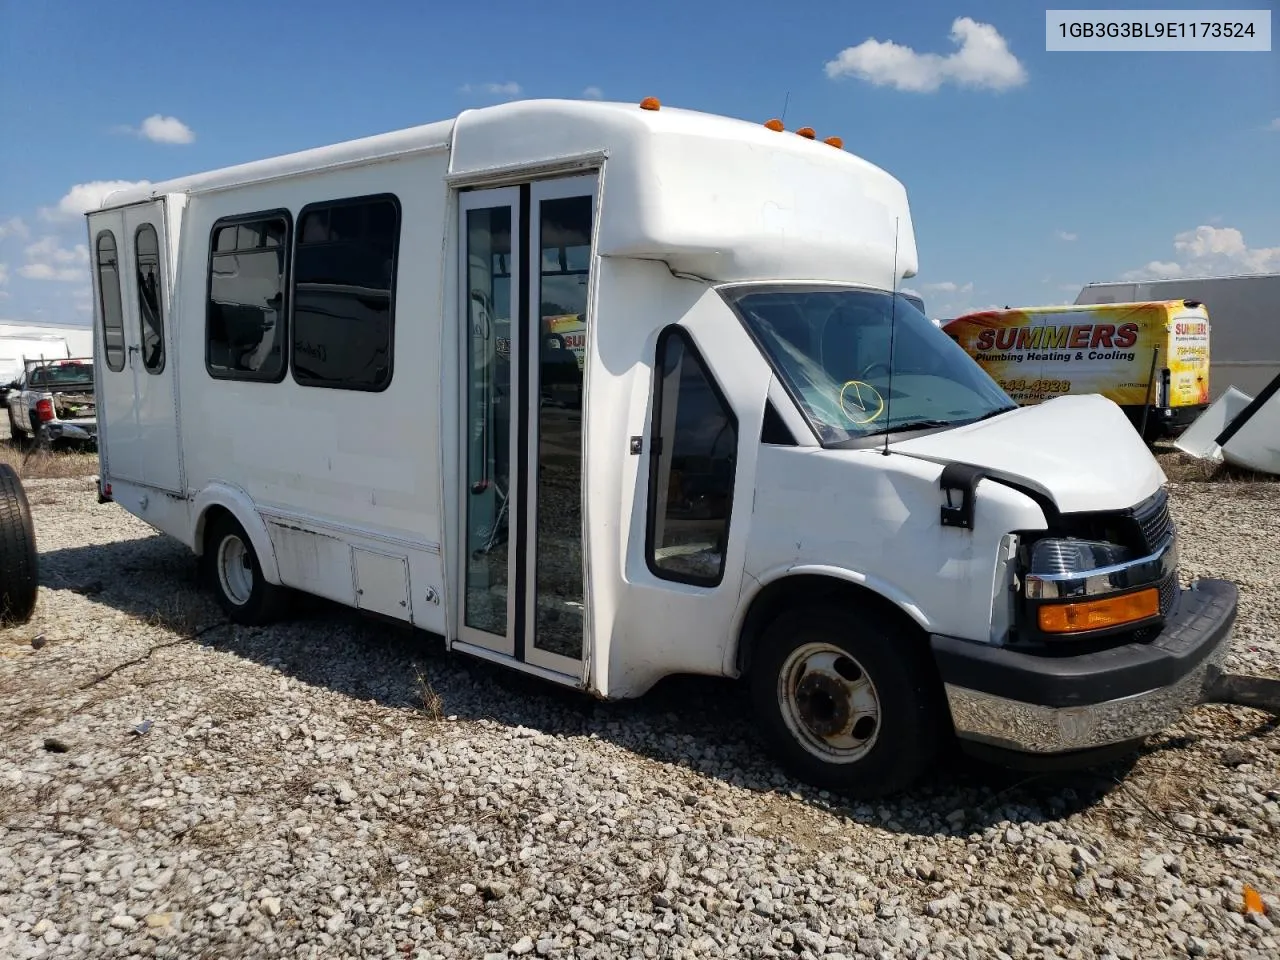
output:
[[[906,192],[837,138],[525,101],[119,192],[88,242],[100,498],[238,622],[293,590],[599,698],[740,677],[863,795],[951,737],[1129,749],[1226,655],[1120,408],[1019,410],[895,293]]]

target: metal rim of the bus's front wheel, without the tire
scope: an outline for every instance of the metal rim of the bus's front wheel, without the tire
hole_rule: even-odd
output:
[[[826,763],[856,763],[879,737],[881,704],[863,664],[835,644],[803,644],[778,671],[791,736]]]

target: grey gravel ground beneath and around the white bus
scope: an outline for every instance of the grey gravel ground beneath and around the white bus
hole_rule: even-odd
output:
[[[1174,493],[1185,571],[1242,585],[1233,666],[1270,676],[1276,489]],[[90,481],[28,492],[0,956],[1280,956],[1261,713],[1202,707],[1087,774],[954,763],[850,808],[762,758],[732,685],[598,704],[317,602],[232,627]]]

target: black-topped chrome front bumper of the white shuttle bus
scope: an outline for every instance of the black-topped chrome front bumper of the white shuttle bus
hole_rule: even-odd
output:
[[[1038,655],[929,637],[956,735],[998,751],[1073,755],[1142,740],[1203,701],[1222,672],[1238,590],[1199,580],[1149,643]]]

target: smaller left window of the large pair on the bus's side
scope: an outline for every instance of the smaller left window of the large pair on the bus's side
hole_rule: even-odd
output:
[[[227,218],[209,239],[205,367],[220,380],[284,379],[289,214]]]

